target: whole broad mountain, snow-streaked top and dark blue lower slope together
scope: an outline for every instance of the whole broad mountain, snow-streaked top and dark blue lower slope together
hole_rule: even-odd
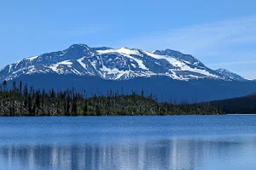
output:
[[[58,52],[22,59],[0,70],[0,81],[22,81],[35,88],[153,93],[161,100],[205,101],[252,94],[256,82],[235,81],[189,54],[171,49],[90,48],[74,44]],[[9,83],[9,86],[11,83]]]

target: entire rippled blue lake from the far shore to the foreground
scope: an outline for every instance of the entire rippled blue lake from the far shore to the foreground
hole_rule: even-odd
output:
[[[255,170],[256,116],[0,117],[0,169]]]

